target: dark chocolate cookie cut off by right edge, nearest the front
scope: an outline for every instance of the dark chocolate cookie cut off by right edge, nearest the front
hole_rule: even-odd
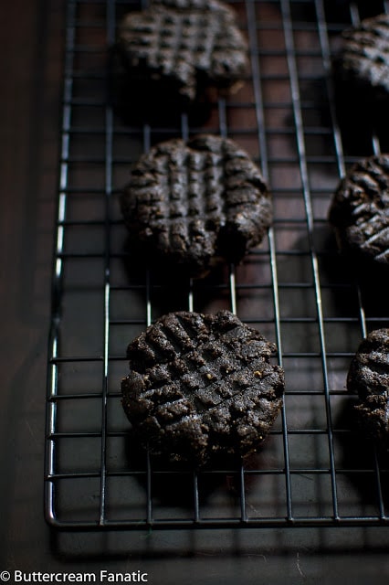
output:
[[[389,329],[377,329],[363,340],[352,359],[347,388],[361,399],[355,408],[363,430],[389,449]]]

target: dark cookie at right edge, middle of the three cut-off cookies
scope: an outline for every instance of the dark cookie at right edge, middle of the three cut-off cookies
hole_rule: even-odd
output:
[[[333,197],[330,215],[341,250],[389,264],[389,154],[354,165]]]

